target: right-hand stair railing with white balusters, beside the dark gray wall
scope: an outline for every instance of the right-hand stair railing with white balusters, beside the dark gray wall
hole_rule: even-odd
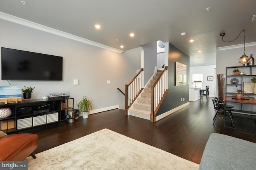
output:
[[[156,82],[151,86],[151,111],[150,111],[150,121],[156,122],[156,113],[161,106],[168,90],[166,89],[166,70],[168,66],[164,67],[164,70],[156,80]]]

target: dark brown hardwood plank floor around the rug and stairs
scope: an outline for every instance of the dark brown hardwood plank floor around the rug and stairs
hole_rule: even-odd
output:
[[[125,116],[124,110],[114,109],[89,115],[88,119],[80,117],[74,123],[60,122],[19,133],[38,134],[38,149],[35,150],[38,153],[107,128],[198,164],[211,133],[222,133],[256,143],[256,133],[225,128],[222,116],[212,125],[214,114],[211,98],[208,101],[204,98],[190,102],[189,106],[156,123]]]

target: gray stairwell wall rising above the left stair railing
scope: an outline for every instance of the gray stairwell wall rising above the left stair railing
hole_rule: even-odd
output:
[[[156,41],[153,43],[148,43],[141,45],[144,50],[144,85],[145,86],[154,74],[156,67]]]

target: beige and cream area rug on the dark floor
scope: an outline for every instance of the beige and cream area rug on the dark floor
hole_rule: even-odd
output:
[[[31,156],[28,170],[198,170],[199,165],[109,129]]]

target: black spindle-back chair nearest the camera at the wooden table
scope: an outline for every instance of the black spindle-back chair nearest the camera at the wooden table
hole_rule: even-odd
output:
[[[230,117],[230,120],[231,120],[231,122],[233,124],[233,127],[235,127],[234,119],[233,119],[233,115],[232,115],[232,111],[234,111],[234,109],[232,109],[230,107],[225,107],[225,105],[219,99],[216,99],[216,98],[212,99],[212,102],[213,102],[214,109],[217,110],[216,114],[214,115],[213,123],[212,124],[214,124],[214,122],[215,122],[215,120],[216,120],[216,118],[218,116],[218,113],[220,111],[223,111],[224,112],[224,116],[226,116],[225,115],[226,112],[228,113],[228,115]]]

